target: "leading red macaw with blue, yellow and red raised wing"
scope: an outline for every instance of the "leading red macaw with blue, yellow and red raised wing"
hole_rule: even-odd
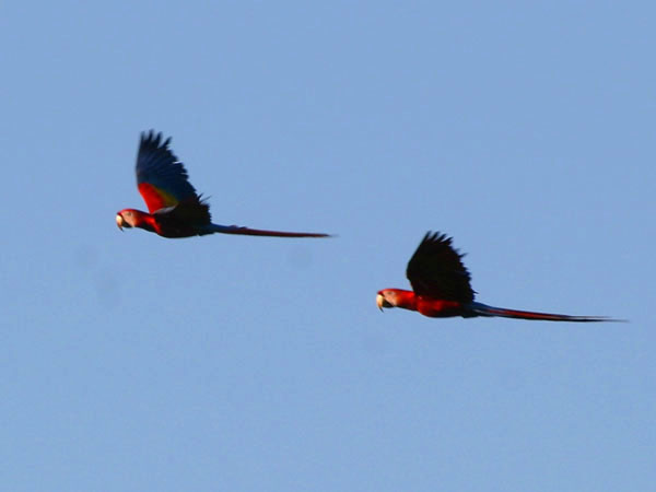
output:
[[[276,237],[328,237],[329,234],[260,231],[237,225],[212,224],[210,206],[189,183],[187,169],[168,148],[171,138],[162,133],[141,133],[137,154],[137,187],[150,213],[124,209],[116,224],[139,227],[164,237],[190,237],[206,234],[245,234]]]

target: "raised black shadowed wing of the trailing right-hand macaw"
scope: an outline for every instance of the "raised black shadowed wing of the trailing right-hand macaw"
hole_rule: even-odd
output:
[[[418,295],[445,301],[473,301],[471,276],[446,234],[426,233],[410,258],[406,276]]]

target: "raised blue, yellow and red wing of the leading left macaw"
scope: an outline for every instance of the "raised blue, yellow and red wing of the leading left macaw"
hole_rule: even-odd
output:
[[[176,207],[178,203],[199,204],[200,197],[189,183],[187,169],[168,148],[171,138],[162,133],[141,133],[137,154],[137,187],[150,213]]]

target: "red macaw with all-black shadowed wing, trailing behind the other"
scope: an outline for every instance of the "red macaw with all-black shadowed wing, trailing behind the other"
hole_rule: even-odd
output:
[[[619,321],[602,316],[569,316],[530,311],[493,307],[473,301],[471,276],[462,257],[452,246],[445,234],[429,232],[410,258],[406,276],[412,291],[384,289],[378,291],[376,304],[384,307],[401,307],[418,311],[432,318],[461,316],[502,316],[505,318],[541,319],[544,321]]]

